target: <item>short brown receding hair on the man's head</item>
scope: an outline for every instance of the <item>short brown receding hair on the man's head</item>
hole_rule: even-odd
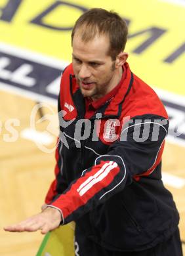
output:
[[[110,39],[110,49],[108,54],[115,60],[117,54],[124,51],[127,42],[127,24],[114,11],[106,11],[101,8],[93,8],[82,14],[72,31],[72,43],[75,32],[81,29],[81,39],[90,41],[97,34],[108,35]]]

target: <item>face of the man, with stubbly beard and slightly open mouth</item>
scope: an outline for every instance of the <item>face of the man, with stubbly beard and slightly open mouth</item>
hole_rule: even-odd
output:
[[[108,37],[97,35],[85,43],[80,33],[75,33],[72,47],[73,70],[83,96],[96,100],[109,93],[115,86],[115,61],[108,56]]]

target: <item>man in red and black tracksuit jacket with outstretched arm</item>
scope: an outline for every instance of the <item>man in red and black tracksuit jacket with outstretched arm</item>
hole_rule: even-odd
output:
[[[56,179],[42,213],[5,230],[45,234],[75,221],[81,256],[182,255],[178,211],[161,181],[167,113],[131,72],[126,41],[115,12],[77,20],[58,98]]]

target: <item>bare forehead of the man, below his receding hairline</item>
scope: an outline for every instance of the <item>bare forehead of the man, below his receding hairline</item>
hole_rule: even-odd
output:
[[[110,58],[108,51],[110,49],[110,40],[106,35],[96,35],[89,41],[82,41],[81,35],[75,33],[73,37],[73,54],[78,58],[105,59]]]

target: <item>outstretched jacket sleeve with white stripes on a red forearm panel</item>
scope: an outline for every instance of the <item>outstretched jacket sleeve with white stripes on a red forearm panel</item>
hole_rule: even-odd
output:
[[[104,203],[140,175],[150,179],[161,162],[168,121],[154,115],[139,120],[133,117],[126,123],[119,140],[113,142],[107,154],[98,156],[92,167],[56,196],[51,207],[60,209],[63,224]]]

